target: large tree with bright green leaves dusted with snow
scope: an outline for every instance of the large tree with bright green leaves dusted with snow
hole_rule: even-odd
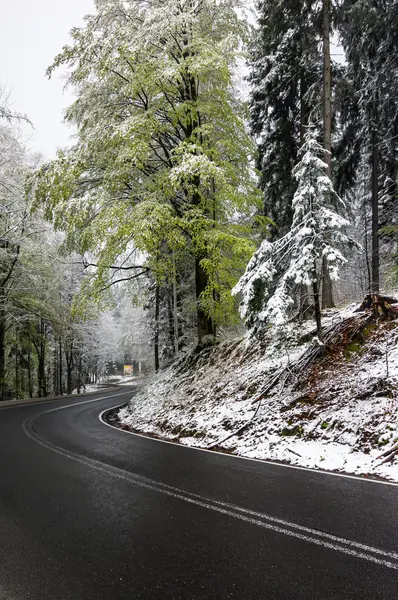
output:
[[[247,230],[231,224],[237,213],[244,223],[258,198],[246,107],[232,85],[247,35],[238,4],[96,0],[49,69],[68,68],[77,100],[66,119],[78,141],[36,180],[47,217],[98,259],[87,296],[128,244],[160,279],[173,251],[189,255],[199,341],[233,314],[231,276],[253,250]]]

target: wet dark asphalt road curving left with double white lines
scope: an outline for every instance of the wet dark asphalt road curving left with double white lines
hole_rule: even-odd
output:
[[[398,600],[398,486],[0,408],[0,600]]]

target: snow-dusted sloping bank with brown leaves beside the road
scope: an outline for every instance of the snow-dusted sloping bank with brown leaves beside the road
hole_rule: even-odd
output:
[[[325,312],[324,326],[355,308]],[[187,446],[398,481],[398,456],[381,457],[398,443],[398,320],[295,371],[313,334],[311,322],[292,325],[289,352],[269,331],[261,342],[185,355],[146,382],[119,425]]]

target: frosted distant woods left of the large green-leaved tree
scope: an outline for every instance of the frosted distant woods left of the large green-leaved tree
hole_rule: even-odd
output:
[[[145,361],[145,319],[120,290],[108,310],[87,305],[84,318],[73,299],[87,276],[85,259],[63,248],[40,210],[33,210],[27,177],[41,161],[20,142],[27,117],[0,98],[0,376],[1,399],[84,391],[99,378]],[[90,314],[91,313],[91,314]]]

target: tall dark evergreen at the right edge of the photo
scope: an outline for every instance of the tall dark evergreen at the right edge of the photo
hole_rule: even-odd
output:
[[[393,0],[345,0],[340,18],[351,90],[342,112],[339,188],[355,185],[365,157],[370,166],[371,291],[378,292],[380,234],[391,252],[397,225],[398,12]]]

